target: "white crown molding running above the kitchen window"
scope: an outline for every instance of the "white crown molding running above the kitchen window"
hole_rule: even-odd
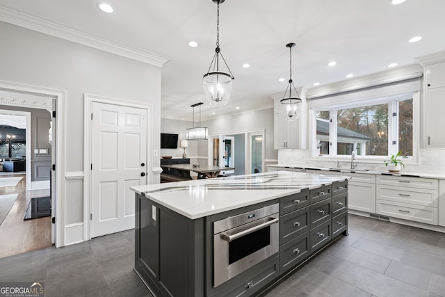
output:
[[[362,88],[369,88],[373,86],[380,86],[386,83],[394,83],[396,81],[405,81],[407,79],[414,79],[423,75],[423,67],[419,64],[412,64],[397,67],[391,70],[375,72],[362,77],[355,77],[344,81],[337,81],[336,83],[328,83],[323,86],[315,88],[308,88],[306,97],[312,99],[316,97],[323,97],[327,95],[334,95],[352,90],[359,90]]]

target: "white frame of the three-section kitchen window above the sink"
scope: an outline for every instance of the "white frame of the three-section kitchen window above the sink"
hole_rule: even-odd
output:
[[[345,100],[345,102],[337,101],[335,104],[316,104],[315,107],[309,107],[309,150],[311,153],[312,161],[344,161],[345,159],[350,159],[350,155],[337,155],[337,110],[339,109],[350,109],[360,106],[371,106],[378,104],[388,104],[388,154],[396,154],[398,150],[398,115],[392,116],[393,112],[398,114],[398,102],[411,99],[412,98],[412,108],[413,108],[413,132],[412,132],[412,156],[409,156],[405,164],[418,164],[419,163],[419,147],[420,147],[420,92],[414,91],[409,93],[403,93],[398,95],[392,95],[387,97],[379,97],[373,99],[357,100],[355,102],[350,102],[350,100]],[[347,102],[346,102],[347,101]],[[330,111],[330,116],[332,122],[330,123],[329,139],[330,143],[330,154],[319,155],[316,143],[316,112],[317,111]],[[392,141],[396,140],[397,144],[393,145]],[[355,146],[355,148],[357,148]],[[369,163],[381,163],[383,160],[387,159],[387,156],[356,156],[357,161],[366,161]]]

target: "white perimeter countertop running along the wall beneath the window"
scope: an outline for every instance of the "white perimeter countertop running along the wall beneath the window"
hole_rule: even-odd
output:
[[[443,174],[423,173],[423,172],[403,172],[403,171],[401,171],[400,173],[391,173],[387,170],[363,170],[360,168],[357,168],[357,169],[323,168],[323,167],[315,167],[315,166],[289,166],[289,165],[279,165],[279,164],[268,165],[268,167],[319,170],[320,174],[323,174],[323,171],[334,171],[334,172],[338,171],[338,172],[346,172],[346,173],[349,173],[349,172],[364,173],[364,174],[369,174],[369,175],[394,175],[396,177],[422,177],[422,178],[445,179],[445,175],[443,175]]]

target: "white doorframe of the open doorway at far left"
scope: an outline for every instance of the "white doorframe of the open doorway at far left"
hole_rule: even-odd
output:
[[[56,166],[53,180],[54,188],[52,190],[54,193],[54,201],[56,202],[56,207],[54,209],[56,223],[51,223],[51,234],[54,234],[54,240],[51,241],[54,241],[56,248],[65,246],[65,195],[63,195],[63,193],[65,191],[65,101],[67,99],[67,92],[66,90],[57,90],[54,88],[45,88],[42,86],[1,80],[0,90],[45,97],[42,97],[42,100],[36,99],[40,104],[46,104],[47,97],[52,98],[51,110],[54,111],[55,108],[56,111],[56,118],[52,118],[51,114],[51,120],[54,120],[55,122],[55,127],[53,127],[53,129],[55,128],[55,132],[53,132],[53,135],[56,136],[51,142],[51,152],[53,154],[52,162],[54,162],[53,164]],[[53,102],[56,102],[56,104],[53,104]],[[10,104],[3,105],[37,108],[36,106],[21,105],[19,102],[10,102]]]

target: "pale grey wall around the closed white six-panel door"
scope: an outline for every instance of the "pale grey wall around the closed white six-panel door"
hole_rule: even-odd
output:
[[[0,22],[0,80],[65,90],[65,244],[83,240],[83,95],[152,106],[149,147],[159,150],[161,67]],[[156,136],[156,137],[155,137]],[[147,169],[159,166],[159,156]],[[88,168],[85,168],[88,170]],[[61,181],[64,182],[65,181]]]

